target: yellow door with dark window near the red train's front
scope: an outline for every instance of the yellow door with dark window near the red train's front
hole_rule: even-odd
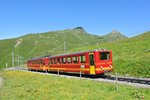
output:
[[[95,74],[94,54],[89,53],[90,74]]]

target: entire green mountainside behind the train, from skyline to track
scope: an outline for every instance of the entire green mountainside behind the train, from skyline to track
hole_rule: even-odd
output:
[[[105,36],[96,36],[77,27],[0,40],[0,46],[0,68],[12,66],[12,52],[17,66],[18,59],[25,63],[37,56],[105,48],[113,51],[114,72],[150,77],[150,32],[133,38],[127,38],[116,30]]]

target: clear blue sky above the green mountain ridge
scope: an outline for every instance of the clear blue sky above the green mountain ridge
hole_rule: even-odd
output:
[[[0,0],[0,39],[78,26],[97,35],[150,30],[150,0]]]

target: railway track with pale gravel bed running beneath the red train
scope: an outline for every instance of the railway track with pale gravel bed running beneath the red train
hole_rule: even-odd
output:
[[[8,70],[22,70],[22,71],[28,71],[27,69],[13,67],[9,68]],[[57,72],[39,72],[39,71],[30,71],[34,73],[40,73],[40,74],[53,74],[53,75],[59,75],[62,77],[69,77],[69,78],[82,78],[82,79],[90,79],[90,80],[96,80],[96,81],[105,81],[105,82],[113,82],[113,83],[123,83],[123,84],[129,84],[129,85],[137,85],[139,87],[146,87],[150,88],[150,79],[143,79],[143,78],[131,78],[131,77],[120,77],[120,76],[91,76],[91,75],[85,75],[85,74],[72,74],[72,73],[57,73]]]

